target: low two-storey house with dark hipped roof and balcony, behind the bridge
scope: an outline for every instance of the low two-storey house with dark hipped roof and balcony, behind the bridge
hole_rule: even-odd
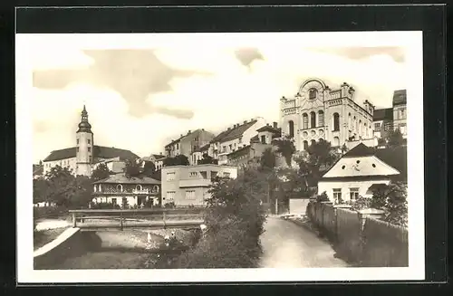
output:
[[[125,207],[159,205],[160,181],[151,177],[126,177],[124,173],[93,183],[92,202]]]

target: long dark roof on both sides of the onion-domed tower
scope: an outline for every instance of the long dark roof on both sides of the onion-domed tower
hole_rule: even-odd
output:
[[[43,161],[54,161],[66,158],[75,158],[75,156],[76,156],[75,147],[64,148],[52,151],[51,154]],[[139,158],[139,157],[136,154],[132,153],[130,150],[94,145],[93,158],[105,158],[105,159],[120,158],[120,160],[124,160],[128,158]]]

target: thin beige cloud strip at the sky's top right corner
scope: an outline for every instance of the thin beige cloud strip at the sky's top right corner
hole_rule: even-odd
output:
[[[313,48],[319,53],[333,53],[352,60],[364,60],[373,55],[389,55],[395,62],[404,62],[404,51],[401,47],[338,47],[338,48]]]

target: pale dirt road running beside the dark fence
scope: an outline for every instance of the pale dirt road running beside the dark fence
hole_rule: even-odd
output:
[[[311,231],[277,217],[268,217],[261,235],[264,255],[261,267],[347,267],[335,258],[332,246]]]

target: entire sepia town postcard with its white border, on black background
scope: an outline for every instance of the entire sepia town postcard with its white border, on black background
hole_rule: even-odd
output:
[[[421,32],[15,43],[24,281],[424,280]]]

